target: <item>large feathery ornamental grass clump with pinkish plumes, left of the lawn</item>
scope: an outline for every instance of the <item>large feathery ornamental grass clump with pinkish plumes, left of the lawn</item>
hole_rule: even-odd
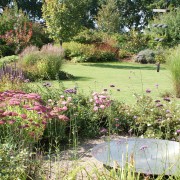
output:
[[[45,45],[39,51],[35,47],[28,47],[21,54],[19,66],[30,80],[58,79],[63,63],[61,48]]]

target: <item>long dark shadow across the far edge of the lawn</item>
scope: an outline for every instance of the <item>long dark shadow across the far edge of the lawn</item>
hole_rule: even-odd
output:
[[[91,67],[99,67],[99,68],[112,68],[112,69],[142,69],[142,70],[155,70],[157,69],[157,66],[154,65],[142,65],[142,64],[137,64],[135,66],[133,65],[124,65],[124,64],[119,64],[119,65],[111,65],[111,64],[102,64],[102,63],[96,63],[96,64],[83,64],[83,66],[91,66]],[[160,68],[161,70],[165,70],[164,67]]]

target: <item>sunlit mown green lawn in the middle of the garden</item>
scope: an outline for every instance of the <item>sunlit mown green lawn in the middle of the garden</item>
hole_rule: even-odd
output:
[[[134,93],[146,93],[159,97],[162,93],[172,92],[171,76],[165,66],[156,72],[156,65],[141,65],[135,63],[84,63],[64,64],[63,70],[74,75],[73,81],[63,81],[67,88],[77,86],[80,92],[90,94],[92,91],[101,92],[104,88],[113,98],[132,103]],[[115,87],[110,87],[110,85]],[[156,87],[158,84],[158,88]],[[120,89],[120,92],[117,89]]]

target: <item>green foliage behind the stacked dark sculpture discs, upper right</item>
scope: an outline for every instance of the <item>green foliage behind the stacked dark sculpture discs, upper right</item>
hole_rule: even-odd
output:
[[[150,23],[151,46],[173,47],[180,43],[180,8],[156,17]],[[157,41],[156,41],[157,40]]]

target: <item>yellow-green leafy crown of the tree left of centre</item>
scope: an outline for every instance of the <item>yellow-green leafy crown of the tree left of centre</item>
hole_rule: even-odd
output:
[[[54,40],[68,41],[83,29],[89,0],[45,0],[43,18]]]

